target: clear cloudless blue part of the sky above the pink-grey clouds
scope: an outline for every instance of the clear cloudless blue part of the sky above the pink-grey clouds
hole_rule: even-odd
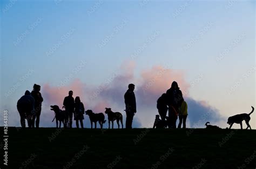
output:
[[[18,98],[34,83],[57,86],[82,60],[86,65],[73,78],[88,85],[103,83],[154,32],[157,37],[134,59],[137,77],[154,65],[168,64],[183,71],[188,84],[203,74],[190,87],[190,96],[216,107],[224,116],[255,106],[255,1],[13,2],[0,2],[1,110],[15,110]],[[120,29],[116,31],[115,26]],[[47,56],[58,42],[62,43],[59,48]],[[191,47],[185,50],[187,44]],[[29,69],[35,72],[6,97]],[[238,81],[240,85],[228,94]]]

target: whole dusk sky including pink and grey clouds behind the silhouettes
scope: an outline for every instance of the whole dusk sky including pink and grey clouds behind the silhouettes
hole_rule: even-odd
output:
[[[69,90],[86,110],[111,107],[125,117],[129,83],[136,85],[134,127],[153,126],[156,101],[174,80],[188,104],[188,127],[210,121],[226,128],[228,117],[255,106],[255,1],[0,5],[0,107],[9,111],[9,126],[20,126],[17,100],[35,83],[43,127],[55,126],[50,105],[61,107]],[[250,124],[256,129],[254,113]]]

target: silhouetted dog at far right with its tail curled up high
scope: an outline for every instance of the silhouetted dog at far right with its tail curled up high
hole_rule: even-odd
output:
[[[249,124],[249,121],[251,120],[250,115],[253,113],[253,111],[254,111],[254,107],[252,106],[252,111],[251,111],[251,113],[249,113],[249,114],[247,114],[247,113],[242,113],[242,114],[237,114],[237,115],[235,115],[235,116],[229,117],[228,120],[227,120],[227,124],[230,125],[230,129],[231,129],[231,127],[232,127],[232,125],[233,125],[234,123],[240,124],[241,129],[242,129],[242,121],[245,120],[245,123],[246,123],[246,125],[247,125],[247,128],[246,128],[246,129],[248,129],[248,128],[250,127],[250,129],[252,130],[252,128],[251,128],[251,126],[250,126],[250,124]]]

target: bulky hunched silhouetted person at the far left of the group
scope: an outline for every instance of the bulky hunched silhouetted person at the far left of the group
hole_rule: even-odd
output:
[[[35,99],[31,96],[30,92],[27,90],[25,95],[22,96],[17,102],[17,109],[19,116],[21,116],[21,126],[26,127],[25,119],[28,120],[29,128],[32,127],[32,117],[35,107]]]

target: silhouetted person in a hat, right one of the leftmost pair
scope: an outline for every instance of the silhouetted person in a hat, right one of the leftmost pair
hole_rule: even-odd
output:
[[[40,115],[42,110],[42,102],[43,102],[43,97],[40,93],[40,90],[41,90],[41,86],[34,84],[33,91],[31,92],[31,96],[35,99],[35,113],[36,113],[32,119],[32,127],[35,127],[35,120],[36,120],[37,128],[39,127]]]

